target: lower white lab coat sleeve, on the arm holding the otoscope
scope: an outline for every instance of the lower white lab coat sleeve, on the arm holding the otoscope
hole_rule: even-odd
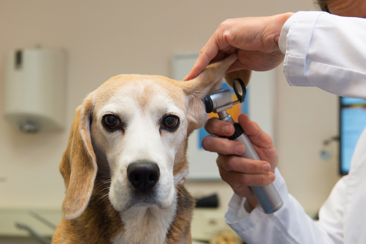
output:
[[[324,218],[316,223],[304,211],[300,203],[287,191],[283,177],[278,169],[275,170],[276,180],[273,184],[279,191],[284,201],[280,210],[273,214],[265,214],[260,206],[251,213],[247,213],[243,207],[245,198],[236,194],[229,202],[225,221],[248,244],[340,244],[343,243],[343,233],[340,233],[341,222],[339,219],[343,207],[332,206],[332,200],[325,204],[322,210]],[[342,188],[339,188],[342,191]],[[337,197],[339,192],[335,192]],[[339,211],[336,216],[334,211]]]

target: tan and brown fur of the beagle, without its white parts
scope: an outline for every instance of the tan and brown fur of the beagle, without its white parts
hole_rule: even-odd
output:
[[[209,65],[201,75],[188,82],[178,82],[163,76],[120,75],[105,82],[86,98],[78,107],[71,126],[67,148],[60,162],[60,172],[66,186],[66,196],[62,204],[63,218],[53,236],[53,244],[107,244],[124,231],[121,214],[108,198],[111,169],[108,165],[104,145],[108,143],[102,134],[97,133],[96,111],[104,106],[113,96],[115,87],[134,84],[137,80],[150,79],[161,87],[166,87],[169,96],[178,101],[187,101],[183,106],[187,116],[187,138],[197,128],[202,127],[206,120],[202,97],[216,90],[225,70],[236,60],[236,56]],[[235,74],[249,81],[250,72]],[[235,77],[238,78],[238,77]],[[136,96],[143,111],[149,100],[149,89],[146,96]],[[113,99],[115,99],[113,98]],[[185,107],[184,107],[185,106]],[[176,154],[173,175],[186,172],[187,138],[181,145],[182,150]],[[102,143],[101,143],[102,142]],[[99,143],[99,144],[98,144]],[[175,183],[177,211],[167,230],[165,243],[191,243],[190,222],[194,209],[194,200],[182,182]],[[149,214],[148,212],[146,214]],[[152,226],[151,228],[154,228]]]

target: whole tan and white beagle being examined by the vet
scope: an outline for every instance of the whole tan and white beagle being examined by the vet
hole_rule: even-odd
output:
[[[117,75],[89,94],[60,162],[66,196],[53,244],[191,243],[187,139],[206,121],[201,99],[236,59],[187,82]],[[248,83],[250,71],[236,76]]]

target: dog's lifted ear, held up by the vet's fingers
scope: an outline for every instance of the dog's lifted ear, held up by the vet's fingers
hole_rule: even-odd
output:
[[[236,78],[242,79],[246,86],[249,84],[250,70],[234,71],[225,75],[225,71],[237,58],[236,54],[230,55],[224,60],[208,65],[196,78],[179,83],[188,97],[188,135],[193,130],[201,128],[205,123],[207,116],[202,98],[208,93],[219,89],[224,76],[231,87],[232,80]]]

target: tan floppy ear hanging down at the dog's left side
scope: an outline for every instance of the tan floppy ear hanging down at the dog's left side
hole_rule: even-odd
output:
[[[94,187],[97,162],[90,138],[91,112],[92,99],[89,97],[76,109],[68,144],[60,162],[60,172],[66,186],[62,203],[65,219],[75,219],[85,211]]]

